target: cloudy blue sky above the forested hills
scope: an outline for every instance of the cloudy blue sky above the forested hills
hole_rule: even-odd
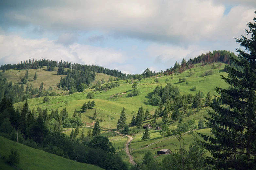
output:
[[[1,0],[0,65],[65,60],[141,74],[236,53],[255,0]]]

